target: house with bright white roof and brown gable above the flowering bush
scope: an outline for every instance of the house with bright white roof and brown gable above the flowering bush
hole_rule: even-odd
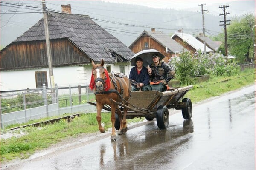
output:
[[[191,34],[177,32],[172,35],[172,39],[189,50],[191,53],[195,53],[198,50],[204,52],[204,43],[197,40]],[[213,50],[206,46],[206,53],[210,52],[213,52]]]

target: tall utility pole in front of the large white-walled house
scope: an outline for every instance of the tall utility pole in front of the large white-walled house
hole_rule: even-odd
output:
[[[51,44],[50,44],[50,38],[49,38],[45,0],[42,0],[42,4],[43,4],[43,12],[44,12],[44,32],[45,32],[45,40],[46,40],[46,51],[47,51],[47,58],[48,58],[50,83],[51,83],[51,88],[54,88],[55,84],[54,84],[54,77],[53,77],[53,70],[52,70],[52,52],[51,52]]]

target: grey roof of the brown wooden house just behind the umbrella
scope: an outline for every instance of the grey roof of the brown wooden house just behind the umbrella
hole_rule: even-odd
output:
[[[169,35],[164,34],[162,31],[143,31],[142,34],[130,45],[130,47],[144,34],[147,34],[148,36],[152,37],[154,40],[156,40],[160,45],[163,47],[167,47],[169,51],[172,52],[183,52],[188,51],[186,48],[183,48],[182,45],[177,43],[175,40],[173,40]]]

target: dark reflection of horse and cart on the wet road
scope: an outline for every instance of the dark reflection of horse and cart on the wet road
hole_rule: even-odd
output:
[[[126,135],[118,136],[117,141],[111,142],[113,155],[107,154],[106,146],[102,144],[100,147],[100,168],[114,167],[120,169],[125,167],[125,169],[134,169],[140,167],[145,164],[146,160],[161,158],[166,152],[171,152],[171,150],[182,146],[192,138],[192,135],[188,134],[194,132],[192,119],[184,120],[183,124],[171,122],[166,130],[158,129],[155,124],[154,120],[144,125],[143,130],[140,128],[140,131],[137,131],[136,128],[130,130],[130,133]],[[111,158],[107,158],[109,156]],[[169,156],[175,155],[170,153]]]

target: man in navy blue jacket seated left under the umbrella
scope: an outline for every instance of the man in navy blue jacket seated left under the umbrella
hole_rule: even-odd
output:
[[[137,57],[135,59],[136,66],[131,68],[129,79],[132,86],[131,91],[144,91],[145,85],[149,84],[148,69],[143,66],[143,59]]]

